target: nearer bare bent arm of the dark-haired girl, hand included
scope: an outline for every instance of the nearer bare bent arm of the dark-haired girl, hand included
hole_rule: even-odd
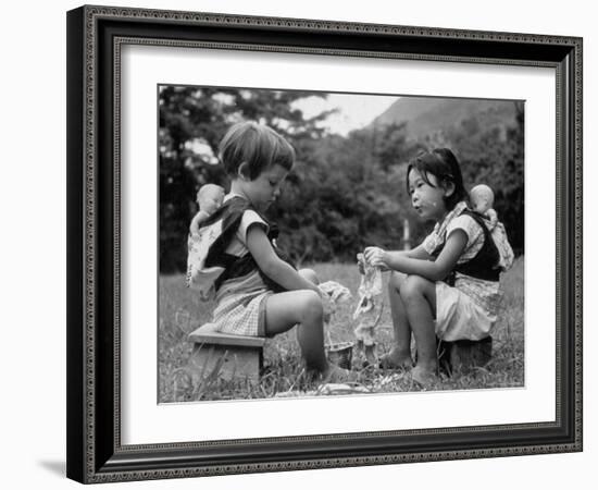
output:
[[[373,266],[386,266],[406,274],[421,275],[429,281],[441,281],[454,268],[466,244],[466,233],[457,229],[449,235],[443,252],[434,261],[410,257],[401,252],[385,252],[376,247],[366,248],[365,258]]]

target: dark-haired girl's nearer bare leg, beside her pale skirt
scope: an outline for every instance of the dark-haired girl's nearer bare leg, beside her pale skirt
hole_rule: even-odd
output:
[[[413,378],[428,381],[436,375],[436,284],[420,275],[409,275],[402,282],[400,295],[415,344],[418,346],[418,365]]]

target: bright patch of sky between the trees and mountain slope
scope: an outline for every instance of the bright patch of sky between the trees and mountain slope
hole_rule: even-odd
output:
[[[376,117],[388,109],[399,97],[360,94],[329,94],[326,100],[320,97],[308,97],[295,102],[306,118],[311,118],[328,109],[338,109],[329,117],[324,126],[331,133],[346,136],[349,131],[370,124]]]

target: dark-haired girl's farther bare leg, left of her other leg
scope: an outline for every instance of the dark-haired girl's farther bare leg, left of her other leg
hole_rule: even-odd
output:
[[[388,280],[388,299],[390,302],[390,313],[393,316],[393,331],[395,334],[395,345],[391,351],[384,356],[383,367],[388,368],[409,368],[413,365],[411,359],[411,326],[400,295],[402,283],[407,275],[401,272],[391,272]]]

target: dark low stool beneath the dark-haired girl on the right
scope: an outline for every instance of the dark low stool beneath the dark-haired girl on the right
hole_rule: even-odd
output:
[[[439,341],[438,366],[449,375],[484,367],[493,358],[493,338],[478,341]]]

